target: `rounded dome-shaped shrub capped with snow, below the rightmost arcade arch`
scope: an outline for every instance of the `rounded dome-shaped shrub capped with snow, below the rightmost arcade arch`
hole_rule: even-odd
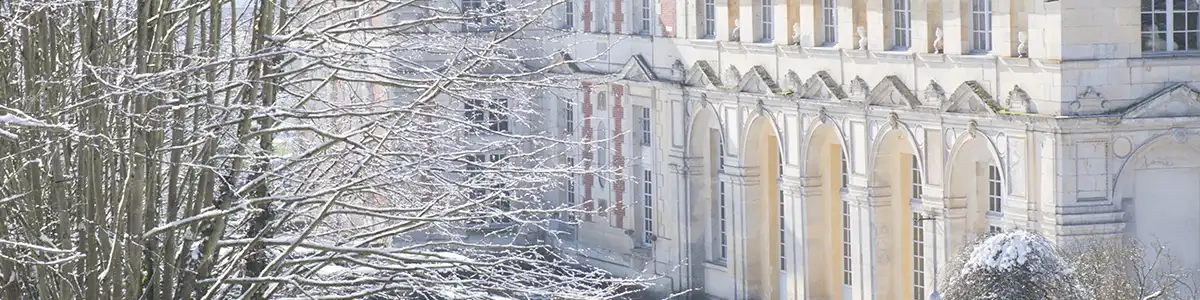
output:
[[[1050,241],[1027,230],[991,235],[948,266],[946,300],[1090,299]]]

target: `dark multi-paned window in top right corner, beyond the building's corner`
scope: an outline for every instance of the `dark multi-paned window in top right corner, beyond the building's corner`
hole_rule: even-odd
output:
[[[1141,50],[1198,50],[1200,4],[1141,0]]]

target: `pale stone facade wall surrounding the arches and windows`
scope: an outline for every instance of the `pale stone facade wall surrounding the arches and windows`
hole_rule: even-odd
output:
[[[757,246],[744,240],[751,229],[744,203],[755,199],[744,191],[748,178],[740,168],[750,157],[740,155],[756,115],[772,116],[778,128],[785,190],[790,191],[785,194],[796,202],[808,200],[800,182],[815,174],[803,163],[809,133],[817,126],[833,126],[846,146],[851,181],[845,197],[853,204],[851,239],[856,245],[852,299],[876,299],[870,287],[892,280],[880,277],[883,270],[872,269],[884,253],[877,242],[888,238],[887,232],[877,230],[884,228],[875,221],[882,193],[872,186],[874,157],[894,150],[877,146],[887,131],[911,137],[920,157],[924,194],[914,204],[916,212],[936,218],[925,226],[926,283],[935,282],[956,247],[983,234],[972,226],[982,218],[998,220],[995,224],[1004,229],[1039,230],[1060,242],[1126,233],[1128,224],[1136,223],[1126,211],[1139,200],[1133,199],[1136,182],[1127,179],[1134,176],[1127,175],[1127,169],[1132,161],[1147,166],[1148,160],[1139,150],[1166,143],[1162,140],[1200,140],[1193,137],[1200,133],[1200,101],[1193,90],[1200,86],[1194,79],[1200,77],[1193,76],[1200,72],[1194,71],[1200,70],[1200,59],[1144,56],[1136,1],[996,0],[995,50],[983,55],[966,54],[966,1],[913,0],[914,7],[926,10],[913,12],[910,52],[880,50],[890,43],[880,4],[856,8],[854,1],[839,1],[844,6],[839,8],[840,42],[816,47],[820,24],[808,16],[818,12],[815,5],[820,1],[776,1],[778,29],[770,43],[756,42],[760,32],[754,20],[758,16],[752,5],[757,1],[738,1],[740,42],[730,42],[731,7],[718,2],[713,40],[696,38],[698,1],[676,1],[679,18],[662,22],[688,38],[588,34],[560,46],[576,59],[599,58],[578,64],[586,72],[618,77],[616,83],[593,82],[625,86],[630,95],[625,128],[637,128],[632,122],[637,115],[631,110],[635,103],[654,108],[654,158],[636,163],[656,168],[659,174],[659,240],[649,251],[637,250],[635,239],[623,229],[598,221],[581,226],[580,244],[593,248],[596,265],[624,275],[670,277],[670,288],[658,287],[662,290],[703,287],[704,294],[719,299],[752,294],[746,282],[752,270],[745,262]],[[798,11],[798,32],[784,22],[797,20],[785,13],[791,10]],[[853,18],[860,10],[865,10],[862,18]],[[626,18],[624,28],[632,28],[634,20]],[[856,25],[866,28],[868,50],[856,49]],[[931,54],[936,28],[943,31],[944,54]],[[1028,36],[1030,58],[1014,58],[1018,32]],[[638,94],[644,96],[635,96]],[[695,253],[708,247],[695,244],[709,242],[696,232],[709,229],[691,226],[688,217],[695,215],[690,210],[702,208],[692,202],[710,200],[708,196],[694,198],[706,192],[690,191],[694,187],[688,185],[696,169],[712,167],[706,166],[707,158],[688,150],[690,138],[698,134],[690,132],[691,121],[707,113],[702,108],[708,106],[715,108],[730,137],[731,167],[721,175],[733,190],[728,194],[730,259],[724,265]],[[1154,160],[1175,167],[1200,161],[1186,154]],[[986,191],[964,190],[978,188],[965,182],[986,180],[986,173],[977,168],[986,170],[988,164],[1000,168],[1003,181],[998,217],[982,215],[979,205],[986,205],[986,198],[980,194]],[[971,172],[964,173],[966,168]],[[961,174],[977,178],[956,178]],[[792,181],[794,186],[787,184]],[[628,185],[625,203],[640,199],[638,192],[638,185]],[[1145,203],[1136,202],[1142,208],[1156,205]],[[787,293],[798,299],[811,296],[805,280],[814,276],[804,272],[809,258],[800,259],[805,256],[799,245],[805,240],[800,217],[805,208],[792,205],[788,210],[788,226],[796,236],[788,245],[794,265],[787,268]],[[626,228],[634,228],[629,226],[636,222],[632,216],[636,214],[626,214]]]

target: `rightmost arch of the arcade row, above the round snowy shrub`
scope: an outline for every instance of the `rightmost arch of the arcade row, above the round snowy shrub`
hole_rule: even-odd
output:
[[[950,251],[986,235],[990,226],[1003,228],[1003,209],[989,212],[988,208],[992,166],[1001,182],[998,193],[1003,203],[1008,198],[1008,173],[995,142],[974,125],[954,139],[942,176],[946,179],[943,205],[950,211],[946,216],[946,239]]]

